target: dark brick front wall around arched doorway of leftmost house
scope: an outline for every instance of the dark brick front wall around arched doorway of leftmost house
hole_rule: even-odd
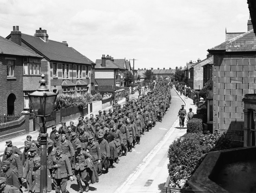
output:
[[[0,114],[7,114],[7,98],[13,93],[16,97],[14,102],[14,113],[20,114],[24,107],[23,98],[23,58],[13,57],[14,77],[16,79],[7,79],[7,59],[0,55]]]

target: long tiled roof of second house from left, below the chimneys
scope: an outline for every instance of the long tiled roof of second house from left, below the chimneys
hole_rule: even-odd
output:
[[[39,37],[23,33],[21,34],[21,38],[49,60],[77,64],[91,64],[91,60],[83,57],[83,55],[78,51],[72,47],[66,46],[62,42],[56,42],[53,40],[48,40],[48,42],[45,42]]]

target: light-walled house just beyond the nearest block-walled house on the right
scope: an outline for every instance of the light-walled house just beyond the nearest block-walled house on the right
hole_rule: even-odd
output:
[[[213,65],[213,56],[208,55],[207,58],[204,60],[199,60],[196,64],[190,67],[190,78],[188,78],[188,86],[191,87],[191,89],[197,89],[200,90],[204,86],[203,82],[203,76],[204,76],[204,65],[209,64]]]

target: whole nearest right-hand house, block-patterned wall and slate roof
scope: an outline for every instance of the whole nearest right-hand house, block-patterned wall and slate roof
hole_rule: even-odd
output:
[[[213,55],[213,131],[230,133],[242,144],[242,99],[256,88],[256,36],[250,20],[248,32],[208,52]]]

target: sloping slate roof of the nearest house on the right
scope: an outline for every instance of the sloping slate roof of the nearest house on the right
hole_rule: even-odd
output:
[[[235,38],[232,38],[222,44],[208,49],[208,51],[226,51],[226,52],[241,52],[241,51],[256,51],[256,36],[253,29],[243,33]]]

